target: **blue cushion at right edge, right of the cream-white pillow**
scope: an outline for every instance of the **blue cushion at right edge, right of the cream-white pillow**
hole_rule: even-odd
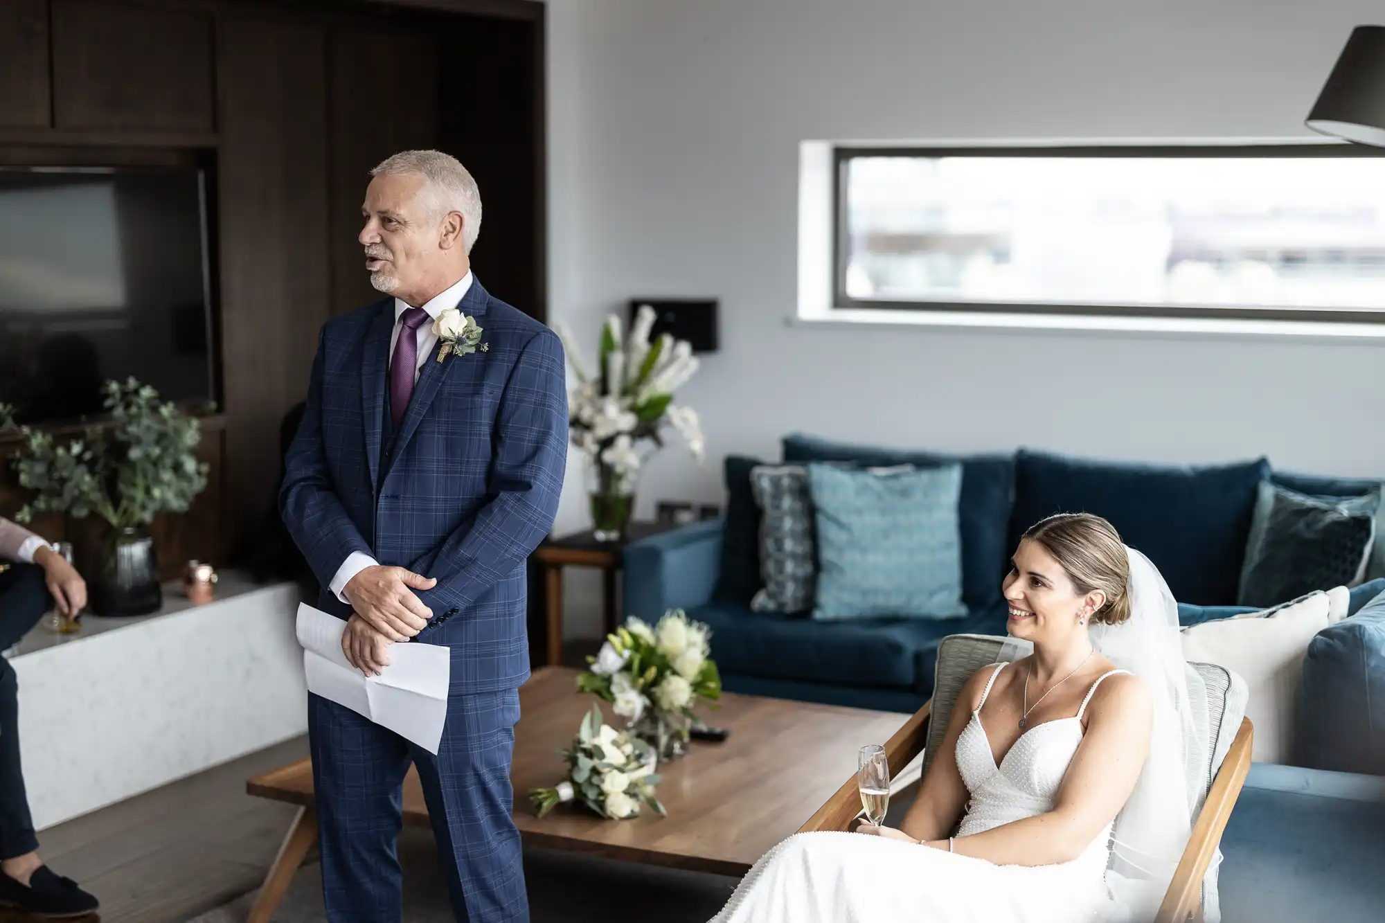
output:
[[[1301,765],[1385,775],[1385,593],[1309,642],[1296,737]]]

